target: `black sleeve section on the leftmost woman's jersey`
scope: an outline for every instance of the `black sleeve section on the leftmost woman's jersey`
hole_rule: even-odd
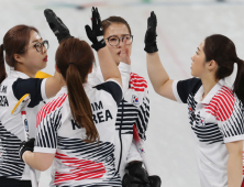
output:
[[[41,90],[42,81],[43,79],[40,78],[18,78],[12,85],[13,95],[20,100],[24,95],[30,94],[31,102],[27,107],[33,108],[43,100]]]

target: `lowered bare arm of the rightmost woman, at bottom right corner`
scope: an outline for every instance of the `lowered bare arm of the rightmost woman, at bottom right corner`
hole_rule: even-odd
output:
[[[243,173],[243,141],[225,144],[229,151],[228,160],[228,187],[240,187]]]

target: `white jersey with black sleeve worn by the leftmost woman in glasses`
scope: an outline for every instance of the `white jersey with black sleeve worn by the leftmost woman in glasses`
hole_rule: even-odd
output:
[[[32,101],[26,108],[26,118],[30,136],[34,138],[35,117],[43,106],[40,101],[46,99],[45,79],[30,78],[23,73],[12,70],[0,85],[0,177],[31,179],[29,167],[19,157],[19,146],[25,140],[21,113],[11,114],[25,94],[31,94]]]

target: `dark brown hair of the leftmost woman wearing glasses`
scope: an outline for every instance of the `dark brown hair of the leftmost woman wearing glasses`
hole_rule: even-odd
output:
[[[31,31],[35,31],[38,33],[37,29],[23,24],[13,26],[5,33],[3,37],[3,44],[0,48],[0,84],[7,77],[3,50],[5,51],[7,64],[10,67],[15,67],[16,61],[14,58],[14,54],[23,55],[26,53],[26,51],[23,50],[29,44]]]

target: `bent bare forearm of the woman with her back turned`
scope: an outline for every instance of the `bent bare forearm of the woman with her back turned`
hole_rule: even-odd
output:
[[[24,162],[32,168],[44,172],[52,165],[55,154],[53,153],[32,153],[26,151],[23,153]]]

